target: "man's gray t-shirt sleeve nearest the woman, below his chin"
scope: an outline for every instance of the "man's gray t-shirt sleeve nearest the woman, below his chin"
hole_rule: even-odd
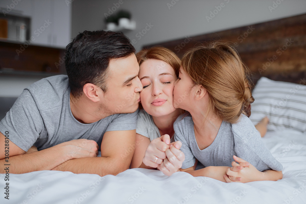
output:
[[[122,113],[117,116],[108,124],[106,131],[118,130],[135,130],[139,109],[134,113]]]

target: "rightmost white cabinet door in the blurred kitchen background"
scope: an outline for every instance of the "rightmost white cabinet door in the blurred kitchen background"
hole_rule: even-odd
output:
[[[71,41],[72,4],[54,0],[54,8],[52,45],[65,48]]]

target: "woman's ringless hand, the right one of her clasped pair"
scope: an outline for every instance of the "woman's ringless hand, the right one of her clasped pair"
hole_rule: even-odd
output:
[[[185,160],[185,154],[180,150],[181,147],[182,143],[176,141],[170,144],[170,149],[166,150],[167,158],[158,166],[158,169],[166,176],[171,176],[182,167],[183,161]]]

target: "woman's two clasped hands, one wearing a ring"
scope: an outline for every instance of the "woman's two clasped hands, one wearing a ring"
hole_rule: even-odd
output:
[[[181,146],[180,141],[170,143],[170,136],[162,135],[151,141],[142,161],[145,165],[171,176],[182,167],[185,160],[185,154],[180,150]]]

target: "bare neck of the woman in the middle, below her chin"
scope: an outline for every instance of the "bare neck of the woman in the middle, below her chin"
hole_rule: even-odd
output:
[[[152,116],[155,125],[159,129],[160,135],[168,134],[171,138],[174,135],[173,124],[177,117],[179,117],[179,115],[181,115],[182,113],[184,113],[184,111],[178,108],[174,112],[165,116]]]

